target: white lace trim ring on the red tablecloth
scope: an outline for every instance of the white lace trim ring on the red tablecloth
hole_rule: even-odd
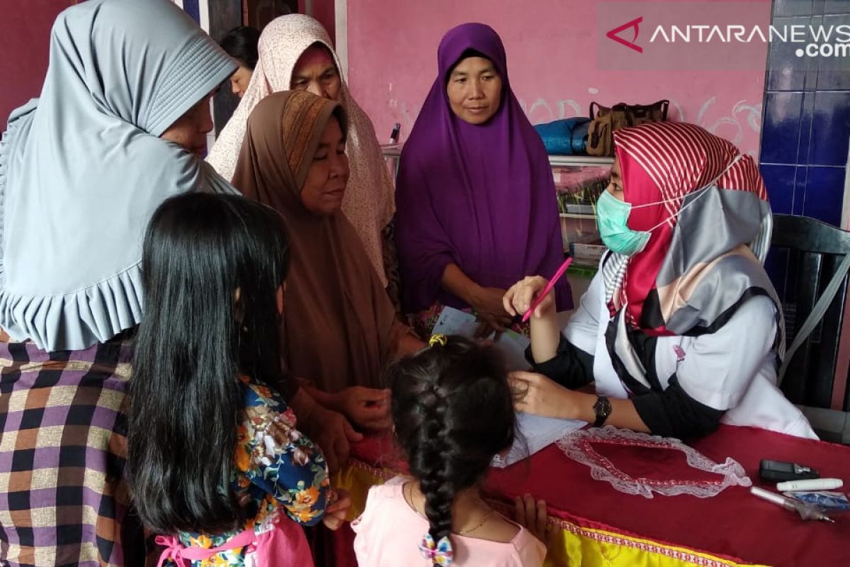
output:
[[[608,458],[600,455],[594,444],[632,445],[650,449],[665,449],[682,451],[692,468],[715,473],[722,478],[717,480],[656,480],[643,477],[632,478],[614,466]],[[652,498],[653,492],[662,496],[677,496],[689,494],[698,498],[717,496],[728,486],[751,486],[752,481],[746,476],[740,462],[732,457],[726,457],[726,462],[718,464],[707,456],[696,451],[693,447],[683,444],[679,439],[636,433],[626,429],[611,426],[604,428],[589,428],[575,431],[558,440],[558,447],[566,456],[590,467],[591,476],[597,480],[609,482],[615,490],[626,494],[639,494]]]

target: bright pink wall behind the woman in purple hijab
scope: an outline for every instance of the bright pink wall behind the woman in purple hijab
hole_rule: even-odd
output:
[[[394,122],[401,123],[405,139],[436,76],[440,38],[452,26],[481,21],[501,35],[514,93],[533,123],[587,116],[593,100],[648,104],[671,99],[673,120],[700,124],[757,155],[766,44],[738,50],[734,63],[743,71],[604,71],[600,66],[610,65],[599,65],[598,42],[610,40],[598,33],[597,19],[599,10],[610,6],[601,4],[599,0],[349,0],[348,84],[382,142]],[[694,25],[702,23],[699,3],[622,4],[632,4],[626,8],[638,13],[650,4],[655,9],[658,5],[680,12],[690,9]],[[687,8],[689,4],[692,8]],[[725,4],[722,12],[728,11],[729,24],[739,23],[735,20],[743,12],[747,21],[770,23],[769,0],[739,1],[745,10],[726,10],[735,3]],[[627,9],[619,23],[627,21]],[[648,42],[651,31],[644,26],[641,41]],[[627,57],[629,49],[621,48],[620,53]],[[693,68],[702,65],[697,61]]]

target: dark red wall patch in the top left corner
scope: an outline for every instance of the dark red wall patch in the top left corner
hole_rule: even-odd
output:
[[[74,0],[3,0],[0,16],[0,131],[9,112],[42,90],[48,70],[50,28]]]

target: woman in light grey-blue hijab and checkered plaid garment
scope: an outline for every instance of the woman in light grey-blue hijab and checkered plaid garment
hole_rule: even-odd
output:
[[[199,155],[235,68],[168,0],[89,0],[59,14],[41,97],[9,117],[0,564],[144,562],[122,481],[142,236],[168,196],[233,192]]]

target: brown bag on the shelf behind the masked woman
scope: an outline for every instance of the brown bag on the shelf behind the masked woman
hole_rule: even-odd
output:
[[[593,110],[593,107],[596,110]],[[663,122],[667,119],[669,100],[659,100],[653,105],[626,105],[618,103],[610,108],[596,102],[590,104],[590,128],[587,129],[587,154],[589,156],[614,156],[614,131],[618,128],[638,126],[645,122]]]

